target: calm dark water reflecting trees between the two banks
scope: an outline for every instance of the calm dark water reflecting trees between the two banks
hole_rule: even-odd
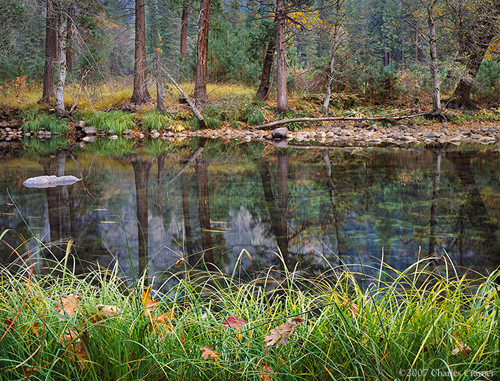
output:
[[[59,144],[59,145],[58,145]],[[498,150],[309,150],[260,143],[120,140],[86,147],[34,141],[3,147],[0,232],[29,240],[40,264],[74,239],[79,271],[119,262],[132,275],[203,258],[231,272],[270,266],[317,275],[329,266],[404,269],[445,252],[458,266],[500,265]],[[63,149],[61,149],[63,148]],[[190,160],[196,153],[195,160]],[[192,158],[193,159],[193,158]],[[83,181],[51,189],[40,175]],[[39,241],[49,244],[41,248]],[[26,252],[21,246],[20,253]],[[0,262],[16,255],[0,243]],[[182,268],[183,266],[181,266]]]

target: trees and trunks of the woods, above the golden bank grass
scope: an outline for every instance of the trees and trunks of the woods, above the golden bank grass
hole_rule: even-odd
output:
[[[3,0],[0,80],[43,84],[41,101],[64,115],[71,81],[134,76],[131,101],[149,102],[155,52],[177,79],[255,84],[264,100],[275,87],[286,112],[296,82],[324,92],[391,100],[395,73],[421,73],[432,113],[474,108],[478,76],[500,94],[500,0]],[[445,79],[453,88],[443,105]],[[424,81],[423,79],[420,82]],[[422,86],[417,83],[416,86]],[[498,93],[496,92],[498,88]],[[492,90],[493,89],[493,90]],[[384,93],[385,91],[385,93]]]

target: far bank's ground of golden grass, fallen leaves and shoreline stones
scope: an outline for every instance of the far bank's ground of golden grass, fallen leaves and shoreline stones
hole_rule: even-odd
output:
[[[186,101],[175,87],[165,88],[167,112],[156,111],[155,91],[152,101],[141,106],[130,103],[132,86],[129,80],[114,81],[80,89],[79,84],[66,89],[66,107],[70,109],[78,97],[77,107],[69,120],[58,120],[48,104],[38,104],[41,88],[10,86],[0,94],[0,139],[70,133],[75,135],[130,135],[143,138],[186,138],[194,136],[222,137],[238,140],[271,139],[271,132],[256,131],[254,127],[276,120],[275,94],[259,102],[255,89],[238,84],[209,84],[210,101],[202,108],[207,129],[199,131],[199,123]],[[193,83],[181,86],[192,94]],[[415,104],[412,99],[420,99]],[[424,107],[425,96],[411,94],[388,103],[363,99],[353,93],[335,93],[331,99],[331,115],[369,118],[373,116],[416,115],[429,111]],[[321,117],[322,94],[291,91],[290,111],[279,119]],[[427,103],[427,102],[426,102]],[[495,144],[500,141],[500,109],[483,106],[475,112],[446,110],[446,122],[417,116],[402,121],[378,122],[336,121],[289,123],[288,140],[319,141],[337,145],[446,144],[461,142]],[[85,127],[86,126],[86,127]],[[93,127],[93,128],[89,128]],[[6,131],[7,129],[7,131]],[[47,132],[49,132],[47,134]],[[40,136],[41,135],[41,136]],[[47,136],[48,135],[48,136]]]

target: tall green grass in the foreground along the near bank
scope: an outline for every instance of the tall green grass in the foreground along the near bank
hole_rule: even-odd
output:
[[[2,270],[0,379],[469,380],[500,374],[498,272],[472,281],[442,276],[425,262],[403,272],[380,270],[372,279],[346,269],[308,280],[285,268],[281,278],[268,273],[251,282],[239,282],[237,268],[233,275],[186,272],[171,275],[176,286],[155,293],[159,305],[147,317],[145,278],[127,282],[117,267],[76,275],[65,263],[43,276],[27,263]],[[80,297],[80,306],[60,314],[61,297],[70,294]],[[108,316],[99,305],[119,310]],[[227,327],[230,317],[246,324]],[[283,329],[286,321],[293,332]],[[289,340],[267,346],[273,334]]]

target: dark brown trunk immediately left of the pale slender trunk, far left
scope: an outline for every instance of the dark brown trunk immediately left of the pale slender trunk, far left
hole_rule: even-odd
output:
[[[54,72],[57,56],[57,14],[53,0],[47,0],[45,27],[45,68],[43,70],[43,94],[40,102],[52,101],[54,92]]]

